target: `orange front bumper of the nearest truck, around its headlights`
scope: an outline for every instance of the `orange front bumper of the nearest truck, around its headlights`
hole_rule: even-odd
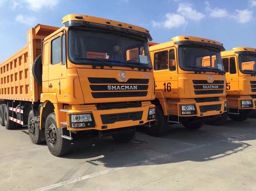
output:
[[[97,110],[95,105],[72,105],[72,108],[66,112],[67,130],[85,131],[94,129],[102,131],[145,124],[155,120],[148,120],[149,109],[154,107],[151,102],[142,102],[141,107],[104,110]],[[72,114],[92,114],[94,127],[72,128]]]

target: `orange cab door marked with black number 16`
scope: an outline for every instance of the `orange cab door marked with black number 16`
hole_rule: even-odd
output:
[[[165,98],[178,98],[178,75],[176,48],[157,50],[152,55],[156,90]]]

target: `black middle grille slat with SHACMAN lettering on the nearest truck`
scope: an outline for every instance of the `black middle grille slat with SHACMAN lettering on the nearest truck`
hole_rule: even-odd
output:
[[[148,90],[148,85],[90,85],[92,91]]]

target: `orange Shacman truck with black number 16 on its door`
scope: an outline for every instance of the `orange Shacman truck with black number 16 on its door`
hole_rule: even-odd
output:
[[[168,123],[199,129],[207,120],[227,119],[223,50],[217,41],[192,36],[150,44],[156,81],[156,121],[150,134],[163,134]]]

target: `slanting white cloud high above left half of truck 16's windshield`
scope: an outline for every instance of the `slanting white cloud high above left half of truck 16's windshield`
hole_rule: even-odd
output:
[[[201,20],[205,17],[203,13],[197,12],[196,10],[192,9],[192,4],[190,3],[180,3],[177,12],[185,18],[191,20]]]

